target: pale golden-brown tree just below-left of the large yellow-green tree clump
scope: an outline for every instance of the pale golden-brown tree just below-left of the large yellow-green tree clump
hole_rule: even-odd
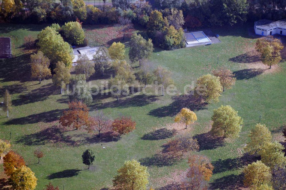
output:
[[[31,72],[32,78],[39,80],[51,76],[51,70],[49,69],[50,60],[44,56],[43,52],[39,51],[37,54],[31,55]]]

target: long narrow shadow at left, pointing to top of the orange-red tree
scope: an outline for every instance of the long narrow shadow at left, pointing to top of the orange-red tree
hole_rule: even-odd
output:
[[[19,125],[25,125],[25,124],[33,124],[33,123],[38,123],[38,122],[52,122],[56,121],[59,119],[61,116],[63,110],[51,110],[47,112],[42,112],[39,114],[32,114],[26,117],[20,117],[20,118],[15,118],[11,119],[5,122],[6,125],[12,125],[12,124],[19,124]]]

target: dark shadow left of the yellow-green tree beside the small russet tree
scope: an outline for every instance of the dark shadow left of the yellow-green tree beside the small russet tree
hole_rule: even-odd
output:
[[[198,111],[202,109],[206,109],[208,105],[204,98],[201,96],[193,96],[190,94],[178,95],[172,97],[173,102],[168,106],[163,106],[160,108],[156,108],[149,112],[149,115],[155,117],[166,117],[166,116],[174,116],[182,108],[189,108],[192,111]]]

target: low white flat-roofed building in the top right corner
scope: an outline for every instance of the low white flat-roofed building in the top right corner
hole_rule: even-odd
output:
[[[286,35],[286,19],[279,21],[272,21],[262,19],[254,23],[254,31],[257,35]]]

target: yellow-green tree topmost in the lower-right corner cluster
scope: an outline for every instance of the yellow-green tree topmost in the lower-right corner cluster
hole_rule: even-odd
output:
[[[268,143],[271,142],[272,135],[269,129],[264,124],[256,124],[255,128],[250,131],[248,135],[250,141],[245,147],[245,151],[250,154],[259,153],[262,148]]]

